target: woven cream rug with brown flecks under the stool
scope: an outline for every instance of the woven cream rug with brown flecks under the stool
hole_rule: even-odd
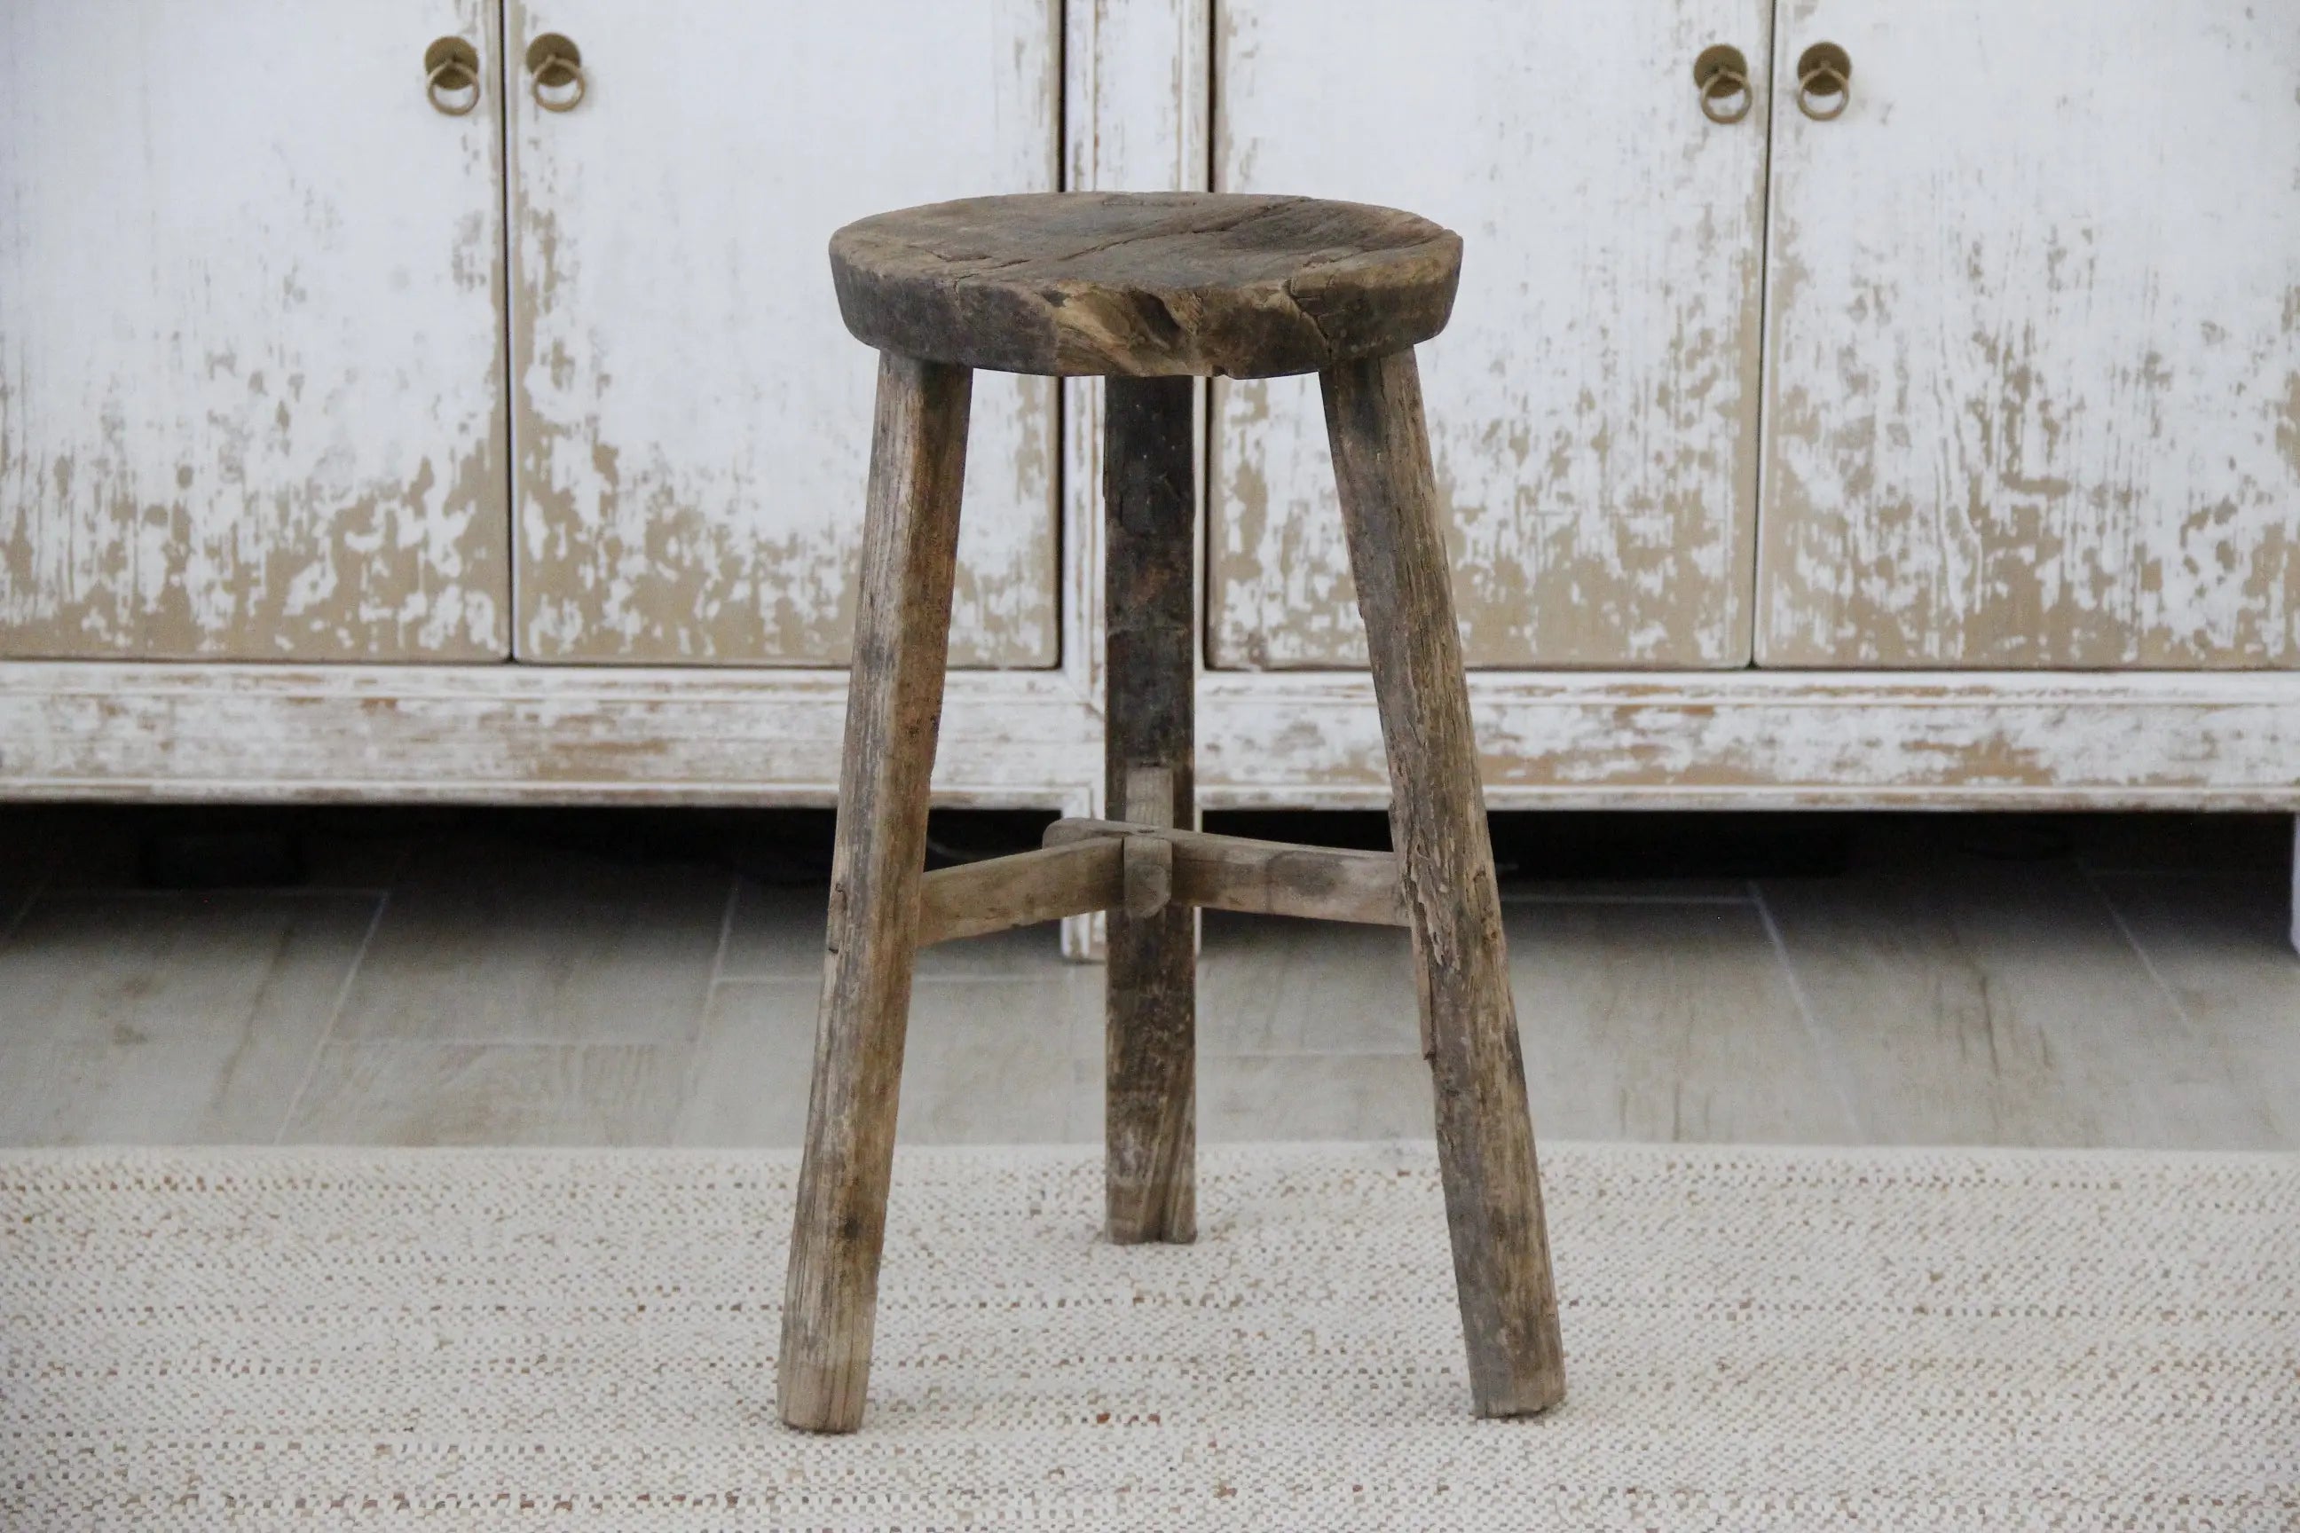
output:
[[[793,1161],[0,1156],[0,1526],[2300,1528],[2300,1163],[1548,1145],[1571,1397],[1479,1423],[1428,1147],[904,1151],[862,1434]]]

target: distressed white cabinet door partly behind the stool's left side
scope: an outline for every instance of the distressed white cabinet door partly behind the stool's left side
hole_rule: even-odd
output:
[[[876,354],[830,232],[1051,191],[1056,44],[1056,0],[511,2],[522,660],[844,664]],[[1056,662],[1056,441],[1049,379],[975,379],[952,664]]]

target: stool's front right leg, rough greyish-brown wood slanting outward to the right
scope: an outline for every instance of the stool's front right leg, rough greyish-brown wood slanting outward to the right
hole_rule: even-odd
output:
[[[1527,1416],[1564,1397],[1564,1354],[1421,377],[1396,352],[1320,384],[1389,747],[1470,1395],[1479,1416]]]

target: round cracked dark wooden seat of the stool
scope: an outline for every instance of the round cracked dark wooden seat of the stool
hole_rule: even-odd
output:
[[[1279,377],[1444,329],[1460,237],[1364,202],[1040,193],[906,207],[830,237],[881,352],[1060,377]]]

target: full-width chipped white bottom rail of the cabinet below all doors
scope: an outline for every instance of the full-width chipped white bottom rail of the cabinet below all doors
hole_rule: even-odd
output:
[[[2300,809],[2300,676],[2272,671],[1481,671],[1470,701],[1497,809]],[[0,784],[828,804],[844,710],[828,671],[0,662]],[[1212,671],[1198,722],[1208,807],[1389,798],[1364,676]],[[1099,770],[1060,671],[950,678],[941,802],[1076,811]]]

